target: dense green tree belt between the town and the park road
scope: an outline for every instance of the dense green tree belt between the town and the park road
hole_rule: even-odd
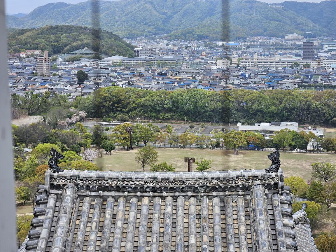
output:
[[[70,102],[64,95],[46,92],[13,94],[12,117],[41,115],[54,108],[71,107],[90,118],[130,120],[179,120],[254,125],[255,122],[292,121],[299,124],[336,125],[336,92],[325,90],[232,90],[203,89],[149,91],[106,87]]]

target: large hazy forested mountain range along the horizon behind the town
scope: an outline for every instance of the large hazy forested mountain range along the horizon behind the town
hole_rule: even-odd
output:
[[[94,2],[97,4],[97,1],[49,3],[24,17],[7,16],[7,26],[91,26]],[[299,7],[295,7],[295,4]],[[284,8],[271,7],[268,3],[254,0],[121,0],[98,1],[98,5],[99,11],[93,11],[93,16],[100,15],[100,27],[124,38],[168,34],[167,37],[171,39],[222,39],[222,34],[225,34],[222,20],[228,22],[231,39],[248,36],[283,37],[294,32],[313,33],[311,36],[336,34],[336,28],[332,25],[335,24],[333,13],[336,12],[336,1],[314,5],[285,2]],[[304,13],[301,9],[306,5],[312,6],[309,7],[312,12],[321,9],[322,13],[323,8],[326,11],[313,15]],[[226,12],[229,14],[223,15]]]

